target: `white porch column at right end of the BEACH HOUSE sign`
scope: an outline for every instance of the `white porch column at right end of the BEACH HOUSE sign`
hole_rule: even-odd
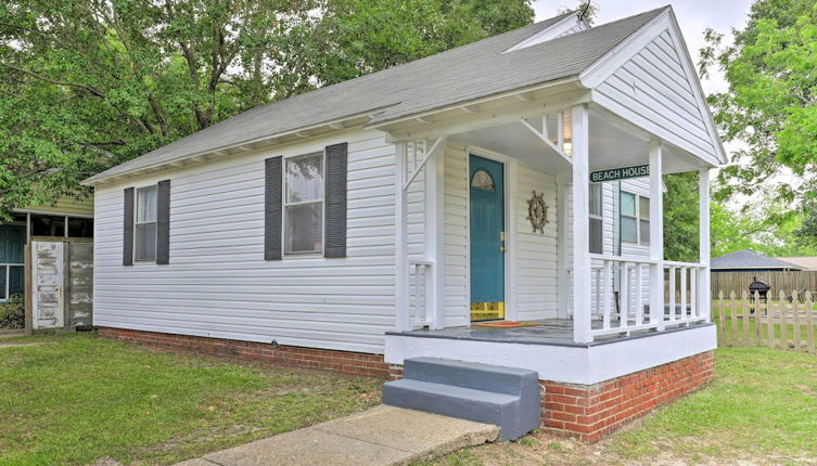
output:
[[[650,141],[650,323],[664,329],[664,191],[661,141]],[[640,289],[640,286],[636,289]]]

